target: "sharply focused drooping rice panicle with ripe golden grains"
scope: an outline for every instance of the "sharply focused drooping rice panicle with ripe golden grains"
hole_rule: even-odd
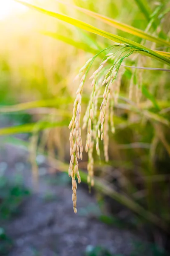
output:
[[[133,53],[133,48],[128,44],[118,43],[113,47],[109,47],[109,49],[119,48],[115,53],[108,53],[103,59],[102,63],[99,65],[98,69],[94,71],[90,79],[92,79],[91,86],[93,87],[90,100],[88,103],[88,107],[85,112],[85,116],[83,117],[83,125],[82,127],[87,127],[87,139],[85,145],[85,151],[88,152],[88,177],[87,181],[89,186],[94,186],[94,158],[93,158],[93,150],[94,144],[96,145],[97,154],[100,155],[99,151],[99,138],[104,140],[104,155],[105,160],[108,161],[108,129],[109,129],[109,118],[111,124],[111,131],[114,132],[114,122],[113,122],[113,114],[114,114],[114,104],[117,103],[119,97],[119,90],[121,85],[121,77],[122,73],[118,71],[122,61],[127,58],[130,54]],[[120,47],[122,47],[123,51],[121,55],[119,55]],[[126,49],[127,48],[127,49]],[[129,49],[132,49],[129,51]],[[123,55],[122,55],[123,54]],[[116,59],[117,56],[117,59]],[[72,177],[72,189],[73,189],[73,201],[74,201],[74,212],[77,212],[76,208],[76,189],[77,182],[75,180],[75,175],[77,175],[78,183],[80,183],[81,178],[78,170],[78,159],[82,160],[82,139],[81,139],[81,128],[80,128],[80,116],[81,116],[81,101],[82,101],[82,87],[85,82],[85,78],[93,63],[94,58],[89,59],[85,65],[79,70],[79,74],[77,77],[82,76],[82,73],[85,74],[82,76],[79,87],[76,92],[76,99],[74,101],[73,108],[73,117],[69,124],[69,129],[71,129],[70,133],[70,154],[71,161],[68,170],[69,176]],[[107,63],[107,65],[105,65]],[[108,65],[110,67],[108,67]],[[85,71],[86,70],[86,71]],[[139,78],[140,80],[140,78]],[[102,90],[102,103],[100,105],[100,114],[98,115],[98,99],[100,98]],[[136,93],[138,91],[136,90]]]

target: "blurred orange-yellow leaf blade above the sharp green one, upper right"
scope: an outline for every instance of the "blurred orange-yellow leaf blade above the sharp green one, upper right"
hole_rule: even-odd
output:
[[[120,29],[124,32],[127,32],[131,35],[136,35],[138,36],[139,38],[143,38],[143,39],[146,39],[148,41],[153,41],[157,44],[163,44],[163,45],[166,45],[166,46],[169,46],[170,47],[170,42],[164,40],[164,39],[161,39],[161,38],[157,38],[157,37],[154,37],[152,35],[149,35],[148,33],[142,31],[141,29],[137,29],[133,26],[129,26],[125,23],[121,23],[117,20],[113,20],[109,17],[106,17],[104,15],[100,15],[96,12],[92,12],[92,11],[89,11],[88,9],[84,9],[82,7],[78,7],[78,6],[74,6],[74,5],[71,5],[71,4],[68,4],[68,3],[64,3],[64,2],[61,2],[59,0],[57,0],[57,2],[59,3],[62,3],[62,4],[65,4],[65,5],[68,5],[68,6],[71,6],[72,8],[74,9],[77,9],[79,10],[80,12],[83,12],[85,14],[87,14],[88,16],[91,16],[91,17],[94,17],[98,20],[102,20],[104,23],[107,23],[113,27],[115,27],[116,29]]]

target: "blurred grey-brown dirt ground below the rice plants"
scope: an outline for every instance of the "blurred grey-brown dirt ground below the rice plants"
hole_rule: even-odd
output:
[[[1,146],[0,163],[6,163],[4,174],[14,179],[24,177],[31,188],[31,166],[28,154],[22,148]],[[44,158],[39,156],[40,180],[38,192],[21,206],[21,213],[10,221],[3,221],[14,247],[8,256],[82,256],[85,250],[101,246],[113,255],[130,256],[133,243],[139,238],[129,230],[118,229],[99,221],[101,211],[94,195],[78,187],[77,214],[72,207],[72,190],[67,178],[48,175],[41,167]]]

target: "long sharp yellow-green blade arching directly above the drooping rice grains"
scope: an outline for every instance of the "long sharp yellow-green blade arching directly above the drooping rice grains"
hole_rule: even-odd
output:
[[[111,33],[108,33],[108,32],[105,32],[104,30],[101,30],[101,29],[98,29],[94,26],[91,26],[89,25],[88,23],[85,23],[85,22],[82,22],[80,20],[77,20],[77,19],[74,19],[72,17],[68,17],[66,15],[62,15],[62,14],[59,14],[57,12],[51,12],[51,11],[47,11],[45,9],[42,9],[40,7],[37,7],[37,6],[34,6],[34,5],[31,5],[29,3],[26,3],[26,2],[23,2],[23,1],[20,1],[20,0],[15,0],[16,2],[18,3],[21,3],[31,9],[34,9],[38,12],[42,12],[43,14],[45,15],[48,15],[48,16],[51,16],[51,17],[55,17],[59,20],[62,20],[62,21],[65,21],[66,23],[69,23],[69,24],[72,24],[74,26],[77,26],[81,29],[85,29],[87,30],[88,32],[92,32],[96,35],[100,35],[102,37],[105,37],[107,39],[110,39],[111,41],[114,41],[114,42],[117,42],[117,43],[123,43],[123,44],[129,44],[130,46],[134,47],[134,48],[138,48],[138,52],[142,55],[146,55],[146,56],[149,56],[150,58],[154,58],[158,61],[161,61],[167,65],[170,65],[170,60],[160,54],[158,54],[157,52],[154,52],[153,50],[147,48],[147,47],[144,47],[142,46],[141,44],[138,44],[134,41],[131,41],[129,39],[126,39],[126,38],[123,38],[121,36],[118,36],[118,35],[114,35],[114,34],[111,34]]]

